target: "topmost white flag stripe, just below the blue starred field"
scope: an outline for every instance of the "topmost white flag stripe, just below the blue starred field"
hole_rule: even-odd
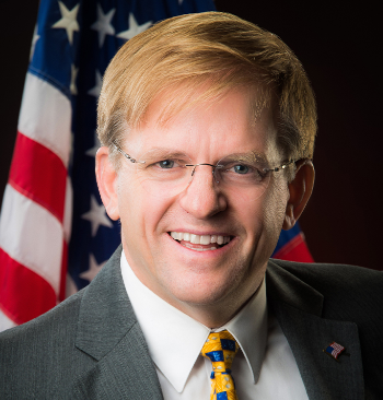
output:
[[[55,86],[28,72],[19,131],[56,153],[67,167],[71,148],[71,105]]]

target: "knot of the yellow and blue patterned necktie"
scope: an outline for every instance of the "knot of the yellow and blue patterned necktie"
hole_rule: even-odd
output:
[[[201,354],[212,363],[214,373],[231,373],[231,364],[240,346],[229,331],[210,333]]]

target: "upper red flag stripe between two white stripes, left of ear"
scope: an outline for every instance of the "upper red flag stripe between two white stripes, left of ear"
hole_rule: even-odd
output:
[[[21,132],[18,133],[9,183],[62,223],[67,168],[53,151]]]

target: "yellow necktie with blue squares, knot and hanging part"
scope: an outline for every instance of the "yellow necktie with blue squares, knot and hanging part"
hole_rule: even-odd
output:
[[[227,330],[209,334],[201,354],[212,363],[210,400],[239,400],[231,364],[240,346]]]

